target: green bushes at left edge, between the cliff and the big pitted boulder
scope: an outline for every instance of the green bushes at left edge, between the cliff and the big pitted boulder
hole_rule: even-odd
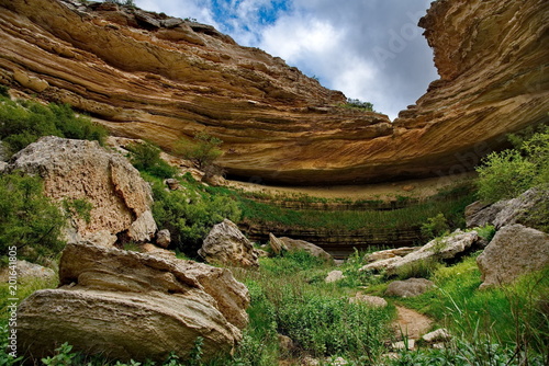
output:
[[[0,96],[0,139],[10,153],[49,135],[102,142],[107,129],[89,117],[76,115],[67,104],[43,105]]]

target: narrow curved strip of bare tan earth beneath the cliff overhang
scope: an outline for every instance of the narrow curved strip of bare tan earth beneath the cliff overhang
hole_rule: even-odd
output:
[[[234,188],[269,195],[309,195],[321,198],[388,201],[394,199],[397,196],[428,197],[436,194],[440,188],[469,181],[475,174],[475,172],[470,172],[460,175],[402,181],[397,183],[334,186],[270,186],[240,181],[227,181],[227,183],[228,186]]]

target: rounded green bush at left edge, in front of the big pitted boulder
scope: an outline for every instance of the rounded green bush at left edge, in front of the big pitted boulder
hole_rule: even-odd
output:
[[[66,220],[43,194],[36,176],[16,173],[0,176],[0,250],[5,260],[9,247],[18,248],[20,260],[36,262],[56,255],[64,247],[59,235]]]

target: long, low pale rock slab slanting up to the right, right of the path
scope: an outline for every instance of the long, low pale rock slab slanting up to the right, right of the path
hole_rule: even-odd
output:
[[[421,249],[410,254],[399,258],[389,258],[378,262],[367,264],[360,271],[381,271],[388,275],[394,275],[400,268],[416,265],[428,261],[451,261],[455,258],[467,253],[471,247],[479,241],[477,231],[463,232],[456,230],[448,237],[436,238],[423,245]]]

